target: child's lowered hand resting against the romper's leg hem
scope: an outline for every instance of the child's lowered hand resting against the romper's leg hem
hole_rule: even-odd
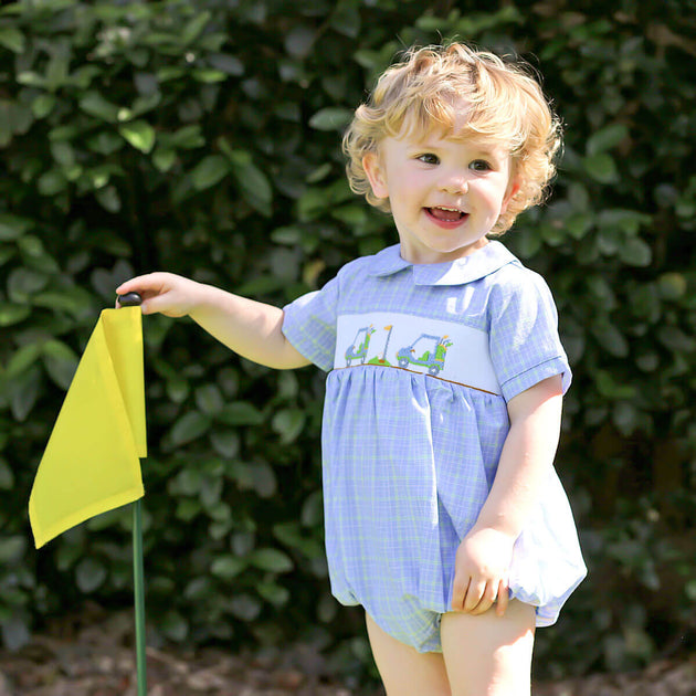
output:
[[[508,603],[507,573],[515,539],[493,528],[474,528],[464,538],[454,561],[452,609],[483,614],[497,601],[496,613]]]

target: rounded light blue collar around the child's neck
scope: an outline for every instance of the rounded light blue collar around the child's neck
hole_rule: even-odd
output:
[[[384,277],[410,267],[413,268],[415,285],[465,285],[495,273],[508,263],[519,264],[519,261],[500,242],[488,242],[470,256],[433,264],[404,261],[400,255],[400,245],[394,244],[373,256],[368,273]]]

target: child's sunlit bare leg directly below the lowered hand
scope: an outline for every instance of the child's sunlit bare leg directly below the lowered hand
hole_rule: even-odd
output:
[[[535,609],[513,600],[473,616],[443,614],[442,652],[452,696],[529,696]]]

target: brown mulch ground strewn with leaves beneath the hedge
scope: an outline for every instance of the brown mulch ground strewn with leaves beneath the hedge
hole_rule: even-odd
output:
[[[0,696],[136,696],[131,623],[129,614],[104,615],[36,635],[17,653],[0,651]],[[148,696],[383,695],[331,681],[327,661],[306,645],[241,655],[148,647],[147,681]],[[537,684],[534,696],[696,696],[696,655],[635,674]]]

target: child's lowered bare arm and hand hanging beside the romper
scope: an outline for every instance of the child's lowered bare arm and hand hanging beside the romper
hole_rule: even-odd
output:
[[[456,553],[452,609],[481,614],[508,602],[513,547],[553,463],[561,419],[561,376],[509,400],[510,430],[498,471],[476,524]]]

